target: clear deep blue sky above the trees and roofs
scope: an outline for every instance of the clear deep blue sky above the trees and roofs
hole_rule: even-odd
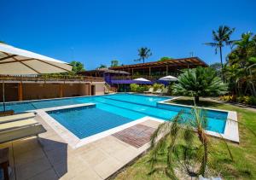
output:
[[[219,61],[211,47],[219,25],[256,33],[255,0],[140,1],[0,0],[0,39],[21,49],[61,61],[83,61],[86,69],[113,59],[135,63],[137,49],[152,50],[147,61],[181,58],[193,51],[211,64]],[[224,49],[224,53],[229,52]]]

